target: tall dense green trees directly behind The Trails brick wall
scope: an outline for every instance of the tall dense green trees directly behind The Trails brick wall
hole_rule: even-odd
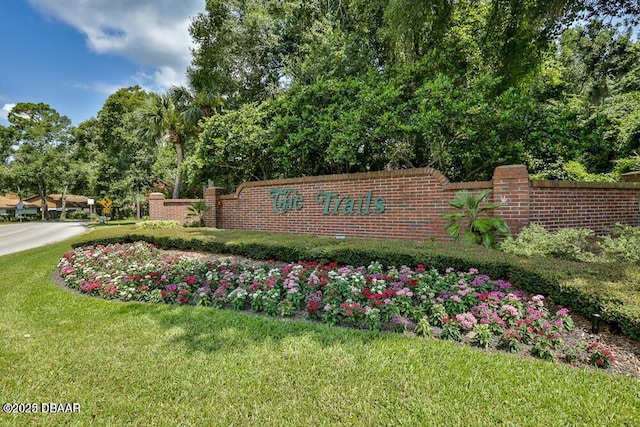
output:
[[[585,7],[210,1],[190,28],[189,76],[225,109],[204,124],[189,179],[233,190],[431,166],[452,181],[486,180],[514,163],[601,179],[638,146],[640,48],[601,22],[571,27]],[[585,169],[563,172],[571,161]]]

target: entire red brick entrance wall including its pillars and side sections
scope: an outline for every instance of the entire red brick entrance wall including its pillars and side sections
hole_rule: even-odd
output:
[[[442,240],[441,215],[462,190],[492,189],[504,203],[496,215],[513,233],[536,222],[549,230],[588,227],[603,232],[616,222],[640,225],[640,183],[530,181],[525,166],[496,168],[492,181],[450,183],[432,168],[402,169],[248,182],[233,195],[209,188],[210,227],[348,237]],[[183,222],[195,200],[149,197],[151,219]]]

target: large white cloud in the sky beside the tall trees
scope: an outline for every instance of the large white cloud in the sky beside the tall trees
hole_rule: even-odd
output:
[[[162,90],[186,82],[191,62],[191,17],[205,0],[29,0],[41,13],[87,37],[98,54],[127,58],[153,69],[141,86]],[[132,76],[132,80],[140,76]],[[140,84],[140,83],[138,83]]]

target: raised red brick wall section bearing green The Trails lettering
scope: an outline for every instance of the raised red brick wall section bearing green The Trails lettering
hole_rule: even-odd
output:
[[[456,191],[490,187],[451,184],[435,169],[421,168],[249,182],[234,195],[208,189],[205,200],[215,203],[218,228],[426,240],[447,238],[440,216],[451,210],[447,201]],[[290,192],[286,213],[274,210],[276,189]],[[214,225],[212,219],[207,225]]]

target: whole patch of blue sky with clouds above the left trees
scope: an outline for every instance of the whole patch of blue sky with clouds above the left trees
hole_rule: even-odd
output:
[[[0,125],[44,102],[74,125],[122,87],[186,83],[191,17],[205,0],[0,0]]]

